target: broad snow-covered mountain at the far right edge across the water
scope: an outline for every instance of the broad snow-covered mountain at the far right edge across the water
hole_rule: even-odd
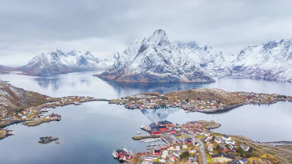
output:
[[[232,76],[292,81],[292,39],[252,44],[242,49],[229,67]]]

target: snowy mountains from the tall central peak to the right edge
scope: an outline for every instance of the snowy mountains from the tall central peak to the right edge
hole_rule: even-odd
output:
[[[250,45],[225,60],[195,42],[169,42],[163,30],[138,39],[100,75],[118,82],[213,82],[212,76],[252,76],[292,81],[292,39]],[[210,77],[211,76],[211,77]]]

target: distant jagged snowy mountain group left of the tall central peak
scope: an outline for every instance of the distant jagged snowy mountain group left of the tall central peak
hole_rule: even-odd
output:
[[[52,52],[41,52],[18,70],[25,75],[55,75],[61,73],[107,69],[110,65],[95,58],[89,51],[85,54],[75,50],[64,53],[58,49]]]

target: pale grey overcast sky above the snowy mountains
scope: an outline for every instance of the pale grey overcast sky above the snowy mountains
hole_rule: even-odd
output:
[[[292,38],[292,0],[1,0],[0,64],[26,64],[41,50],[123,52],[163,29],[225,57]]]

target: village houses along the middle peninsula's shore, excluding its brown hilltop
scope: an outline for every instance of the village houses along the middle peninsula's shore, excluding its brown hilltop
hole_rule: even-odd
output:
[[[233,92],[242,98],[241,102],[226,103],[220,100],[202,98],[179,99],[169,97],[160,93],[139,93],[120,99],[115,99],[109,103],[124,105],[128,109],[156,109],[159,107],[180,107],[185,112],[215,112],[223,109],[232,109],[245,104],[272,104],[278,101],[292,102],[291,96],[278,94],[263,94],[254,92]]]

